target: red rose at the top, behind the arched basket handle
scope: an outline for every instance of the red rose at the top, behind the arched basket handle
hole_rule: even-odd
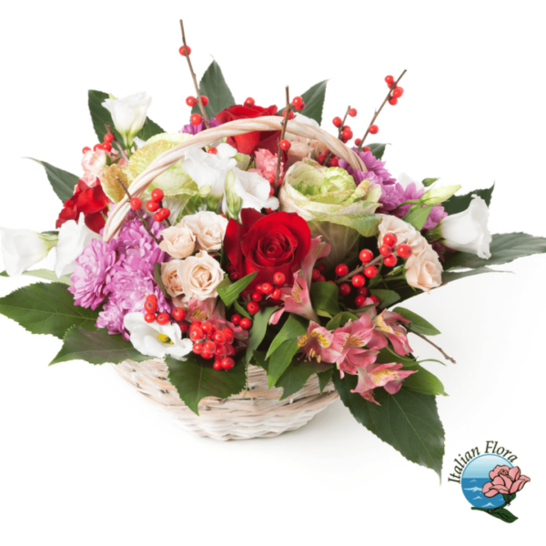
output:
[[[227,123],[236,119],[248,119],[253,117],[275,116],[277,106],[262,108],[261,106],[229,106],[217,114],[218,123]],[[253,156],[258,148],[269,150],[272,154],[278,152],[278,140],[280,131],[252,131],[245,135],[229,136],[227,144],[236,147],[241,154]]]

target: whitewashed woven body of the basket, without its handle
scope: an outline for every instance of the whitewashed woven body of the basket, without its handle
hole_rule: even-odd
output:
[[[114,365],[116,372],[147,400],[162,408],[178,426],[197,436],[214,440],[248,440],[278,436],[303,427],[319,411],[339,398],[331,381],[320,393],[316,375],[303,389],[279,400],[282,389],[268,389],[264,369],[248,366],[248,390],[228,399],[205,398],[199,402],[199,415],[189,410],[177,389],[167,379],[167,366],[161,359]]]

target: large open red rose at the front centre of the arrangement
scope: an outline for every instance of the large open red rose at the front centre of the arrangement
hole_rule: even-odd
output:
[[[243,208],[241,219],[242,225],[229,220],[224,251],[239,278],[258,271],[248,290],[262,282],[273,283],[278,271],[291,284],[292,273],[298,270],[311,244],[308,223],[295,212],[266,216],[254,208]]]

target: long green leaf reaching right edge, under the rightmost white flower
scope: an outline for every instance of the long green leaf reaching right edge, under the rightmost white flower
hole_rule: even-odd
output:
[[[482,268],[506,264],[514,259],[543,254],[546,252],[546,238],[533,237],[527,233],[497,233],[493,235],[490,244],[491,257],[478,258],[468,252],[456,252],[446,255],[444,269],[451,268]]]

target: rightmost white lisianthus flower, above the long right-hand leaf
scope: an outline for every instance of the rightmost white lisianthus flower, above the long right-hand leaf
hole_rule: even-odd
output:
[[[481,197],[472,196],[466,210],[441,221],[442,244],[453,250],[477,254],[480,258],[490,258],[492,237],[487,227],[488,219],[487,203]]]

